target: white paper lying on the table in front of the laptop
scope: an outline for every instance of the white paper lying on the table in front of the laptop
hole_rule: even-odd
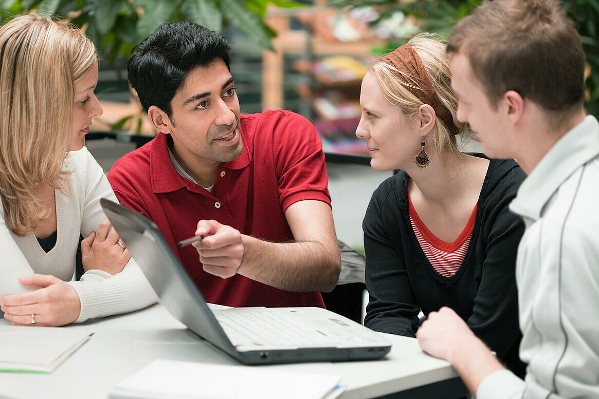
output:
[[[341,377],[261,366],[155,360],[114,386],[114,399],[322,399]]]

